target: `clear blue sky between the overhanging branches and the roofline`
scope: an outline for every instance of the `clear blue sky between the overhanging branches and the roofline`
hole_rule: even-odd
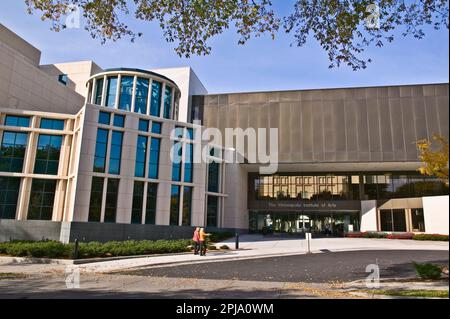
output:
[[[289,12],[293,0],[277,12]],[[264,36],[237,45],[238,37],[227,31],[211,41],[209,56],[180,58],[165,42],[155,24],[132,22],[144,36],[101,45],[83,29],[50,31],[50,23],[28,15],[23,0],[3,0],[0,23],[42,51],[42,63],[94,60],[103,68],[143,69],[191,66],[210,93],[332,88],[449,81],[448,30],[427,30],[423,40],[397,39],[383,48],[366,51],[373,59],[366,70],[348,67],[328,69],[326,53],[314,40],[302,48],[291,47],[292,35],[280,32],[273,41]]]

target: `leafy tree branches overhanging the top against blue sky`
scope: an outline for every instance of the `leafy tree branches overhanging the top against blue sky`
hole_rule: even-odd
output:
[[[66,28],[72,6],[81,9],[85,29],[93,38],[116,41],[142,32],[126,21],[156,22],[180,56],[211,52],[209,40],[229,28],[239,44],[263,34],[275,37],[281,29],[294,36],[293,45],[315,39],[327,52],[330,67],[346,64],[366,68],[364,50],[394,40],[394,30],[421,39],[424,27],[448,28],[448,0],[296,0],[292,12],[278,17],[271,0],[24,0],[28,12],[39,12],[52,29]]]

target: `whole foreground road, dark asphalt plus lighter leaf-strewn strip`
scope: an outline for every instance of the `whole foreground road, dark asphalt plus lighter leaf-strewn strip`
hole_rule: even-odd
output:
[[[401,278],[414,275],[412,261],[448,265],[448,257],[448,251],[383,250],[159,266],[82,273],[71,289],[64,268],[40,265],[25,277],[0,276],[0,298],[352,298],[336,282],[365,279],[369,264],[378,263],[381,278]]]

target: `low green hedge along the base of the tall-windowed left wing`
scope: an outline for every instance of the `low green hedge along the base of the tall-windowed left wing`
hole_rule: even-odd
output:
[[[168,254],[189,251],[191,240],[123,241],[80,243],[78,258]],[[14,257],[71,258],[74,244],[56,241],[0,243],[0,254]]]

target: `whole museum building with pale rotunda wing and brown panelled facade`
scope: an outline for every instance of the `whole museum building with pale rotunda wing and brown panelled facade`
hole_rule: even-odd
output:
[[[0,240],[448,234],[448,185],[416,147],[448,138],[448,83],[208,94],[190,68],[40,55],[0,25]],[[277,172],[227,162],[202,128],[278,129]]]

